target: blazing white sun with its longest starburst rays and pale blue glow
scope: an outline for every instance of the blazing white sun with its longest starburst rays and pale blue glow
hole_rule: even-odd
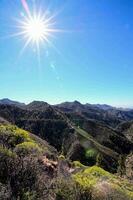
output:
[[[20,17],[14,18],[15,33],[6,38],[21,37],[24,45],[20,49],[18,58],[29,47],[37,54],[40,63],[41,50],[52,47],[58,54],[61,54],[53,44],[52,38],[55,38],[56,33],[64,32],[64,30],[55,27],[58,11],[52,13],[47,8],[36,5],[35,1],[33,2],[34,4],[29,7],[27,0],[21,0],[23,11],[20,12]]]

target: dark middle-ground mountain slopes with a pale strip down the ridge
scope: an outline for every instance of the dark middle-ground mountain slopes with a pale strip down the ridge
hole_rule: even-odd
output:
[[[132,142],[105,122],[90,120],[85,114],[86,105],[76,101],[63,106],[67,106],[67,112],[60,105],[51,106],[42,101],[23,107],[1,104],[0,117],[46,140],[72,161],[79,160],[91,166],[100,156],[101,166],[116,172],[120,155],[130,153]],[[93,108],[90,110],[92,118],[96,111],[105,112]]]

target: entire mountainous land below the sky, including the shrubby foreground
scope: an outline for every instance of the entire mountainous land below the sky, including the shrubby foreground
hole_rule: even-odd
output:
[[[0,199],[132,200],[132,110],[99,107],[1,103]]]

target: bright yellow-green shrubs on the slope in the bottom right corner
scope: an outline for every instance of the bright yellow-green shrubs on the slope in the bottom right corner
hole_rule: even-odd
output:
[[[107,199],[133,199],[133,186],[128,181],[118,178],[115,175],[103,170],[100,167],[93,166],[78,172],[73,175],[74,180],[82,186],[83,189],[89,190],[92,193],[92,199],[95,199],[97,194],[103,195],[103,189],[106,190],[104,198]],[[96,196],[95,196],[96,195]]]

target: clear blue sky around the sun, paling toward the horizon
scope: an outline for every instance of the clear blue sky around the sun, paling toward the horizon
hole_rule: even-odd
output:
[[[32,9],[33,0],[27,0]],[[49,40],[41,44],[40,65],[18,31],[25,12],[20,0],[0,0],[0,98],[49,103],[79,100],[133,106],[133,1],[36,0],[55,16]]]

